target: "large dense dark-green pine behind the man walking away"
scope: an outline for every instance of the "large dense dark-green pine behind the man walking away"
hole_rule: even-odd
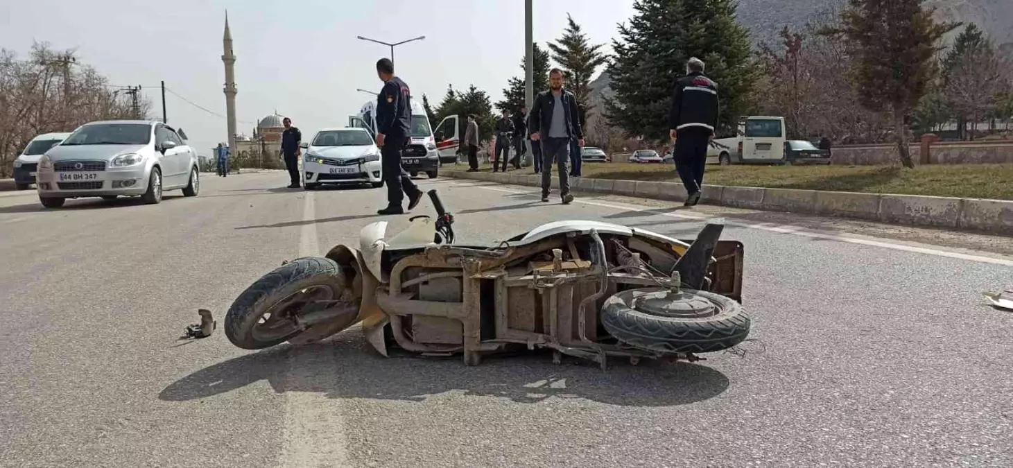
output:
[[[749,31],[735,22],[734,0],[636,0],[629,24],[613,40],[611,87],[605,113],[626,136],[669,138],[675,80],[697,57],[721,97],[718,133],[735,129],[750,105],[756,68]]]

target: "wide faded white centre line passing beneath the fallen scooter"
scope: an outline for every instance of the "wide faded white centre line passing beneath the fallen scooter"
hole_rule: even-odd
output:
[[[313,192],[306,191],[304,200],[299,256],[320,255],[317,227],[313,222],[316,219]],[[350,466],[339,400],[314,390],[318,387],[315,382],[320,376],[309,372],[309,369],[318,368],[310,366],[311,362],[321,357],[306,356],[298,349],[291,349],[290,353],[286,376],[285,439],[279,465],[300,468]]]

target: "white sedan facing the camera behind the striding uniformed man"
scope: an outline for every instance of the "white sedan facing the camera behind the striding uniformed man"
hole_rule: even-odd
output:
[[[307,190],[321,183],[383,186],[380,148],[366,129],[323,129],[303,143],[303,181]]]

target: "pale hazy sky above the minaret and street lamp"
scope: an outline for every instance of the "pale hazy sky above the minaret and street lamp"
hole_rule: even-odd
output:
[[[534,34],[555,41],[566,13],[595,43],[606,44],[633,12],[632,0],[534,0]],[[474,83],[501,98],[520,76],[524,56],[523,0],[29,0],[0,5],[0,46],[27,53],[31,42],[77,48],[79,61],[116,85],[141,85],[161,114],[157,85],[225,114],[222,28],[229,10],[237,56],[240,134],[278,109],[304,134],[343,127],[370,99],[356,88],[380,90],[375,63],[386,43],[424,35],[394,50],[396,72],[412,93],[437,105],[448,84]],[[226,141],[225,119],[166,93],[169,124],[182,128],[201,154]],[[434,127],[438,124],[431,123]],[[69,129],[71,130],[71,129]]]

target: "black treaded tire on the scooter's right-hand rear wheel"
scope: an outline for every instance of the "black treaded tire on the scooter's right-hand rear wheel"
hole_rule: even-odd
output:
[[[683,291],[710,301],[720,312],[706,318],[653,315],[630,308],[621,296],[627,292],[621,292],[606,300],[602,325],[626,344],[667,354],[719,352],[749,336],[752,320],[741,304],[707,291]]]

